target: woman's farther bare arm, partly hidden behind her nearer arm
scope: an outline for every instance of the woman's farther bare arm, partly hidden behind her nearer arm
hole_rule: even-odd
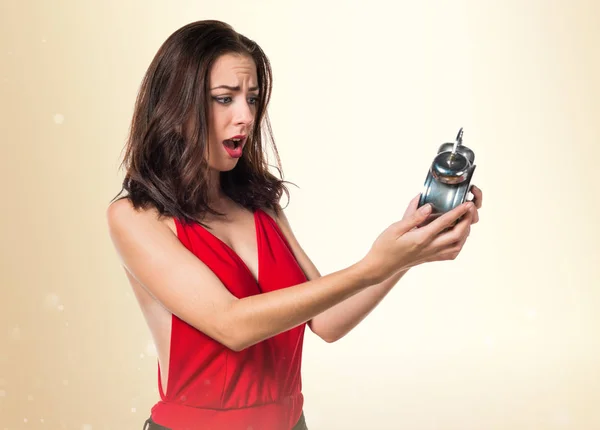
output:
[[[279,216],[273,212],[269,214],[277,221],[306,277],[309,280],[319,279],[321,274],[298,243],[283,210],[279,210]],[[388,279],[348,297],[343,302],[316,315],[308,322],[308,326],[313,333],[326,342],[341,339],[371,313],[407,271],[401,270]]]

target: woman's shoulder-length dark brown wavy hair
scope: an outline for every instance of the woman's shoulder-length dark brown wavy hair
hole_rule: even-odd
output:
[[[217,58],[230,53],[254,60],[259,99],[248,147],[235,168],[221,173],[221,188],[250,210],[278,212],[284,192],[289,199],[267,115],[273,81],[269,60],[256,42],[230,25],[207,20],[175,31],[152,60],[124,148],[125,178],[113,200],[128,198],[136,209],[153,206],[160,215],[184,222],[200,223],[206,213],[220,215],[208,203],[209,73]],[[190,117],[197,119],[191,133],[184,127]],[[265,138],[270,140],[280,178],[269,172]],[[127,195],[121,196],[124,192]]]

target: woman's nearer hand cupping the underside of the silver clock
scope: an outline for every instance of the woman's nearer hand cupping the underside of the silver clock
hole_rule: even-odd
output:
[[[424,262],[454,259],[469,235],[473,208],[472,202],[463,203],[425,226],[431,206],[413,211],[377,237],[361,261],[365,272],[379,283]]]

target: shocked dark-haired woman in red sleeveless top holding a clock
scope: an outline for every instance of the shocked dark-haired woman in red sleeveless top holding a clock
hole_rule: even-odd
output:
[[[305,327],[327,342],[344,336],[410,267],[455,258],[477,222],[477,188],[475,203],[426,226],[431,209],[417,210],[417,196],[364,258],[321,276],[267,169],[270,93],[262,50],[217,21],[171,35],[142,83],[126,193],[107,218],[158,351],[147,428],[306,429]]]

